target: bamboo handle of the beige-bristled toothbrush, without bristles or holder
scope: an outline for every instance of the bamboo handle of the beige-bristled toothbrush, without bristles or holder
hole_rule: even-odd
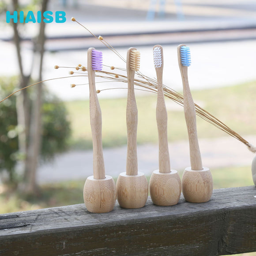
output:
[[[134,94],[134,75],[135,71],[130,68],[131,51],[136,48],[130,48],[127,52],[127,77],[128,77],[128,96],[126,106],[126,126],[127,126],[127,161],[126,174],[138,174],[137,160],[137,126],[138,109]]]

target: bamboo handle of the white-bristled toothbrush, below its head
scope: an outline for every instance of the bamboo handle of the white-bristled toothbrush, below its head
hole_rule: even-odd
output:
[[[162,69],[156,69],[157,80],[158,80],[158,94],[157,94],[157,105],[156,105],[156,121],[158,127],[158,141],[159,141],[159,172],[169,173],[170,157],[168,147],[168,134],[167,134],[167,109],[163,93],[162,85]]]

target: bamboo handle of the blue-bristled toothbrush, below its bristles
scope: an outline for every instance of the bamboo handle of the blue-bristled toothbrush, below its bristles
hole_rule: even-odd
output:
[[[180,54],[179,54],[180,55]],[[184,115],[188,129],[190,163],[192,170],[202,170],[202,159],[200,148],[197,139],[196,130],[196,109],[195,103],[192,98],[191,91],[188,85],[188,67],[181,66],[181,78],[183,84],[183,97],[184,97]]]

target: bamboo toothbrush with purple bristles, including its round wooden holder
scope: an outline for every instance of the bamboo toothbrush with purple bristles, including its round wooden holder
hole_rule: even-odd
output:
[[[93,176],[87,178],[83,199],[90,212],[109,212],[116,202],[116,185],[112,177],[105,176],[102,149],[102,113],[95,88],[95,70],[102,70],[102,52],[89,48],[87,53],[90,89],[90,126],[93,142]]]

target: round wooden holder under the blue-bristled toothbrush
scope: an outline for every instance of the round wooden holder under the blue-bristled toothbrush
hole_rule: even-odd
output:
[[[192,170],[187,167],[182,176],[182,193],[184,199],[191,203],[204,203],[211,199],[213,180],[207,167]]]

